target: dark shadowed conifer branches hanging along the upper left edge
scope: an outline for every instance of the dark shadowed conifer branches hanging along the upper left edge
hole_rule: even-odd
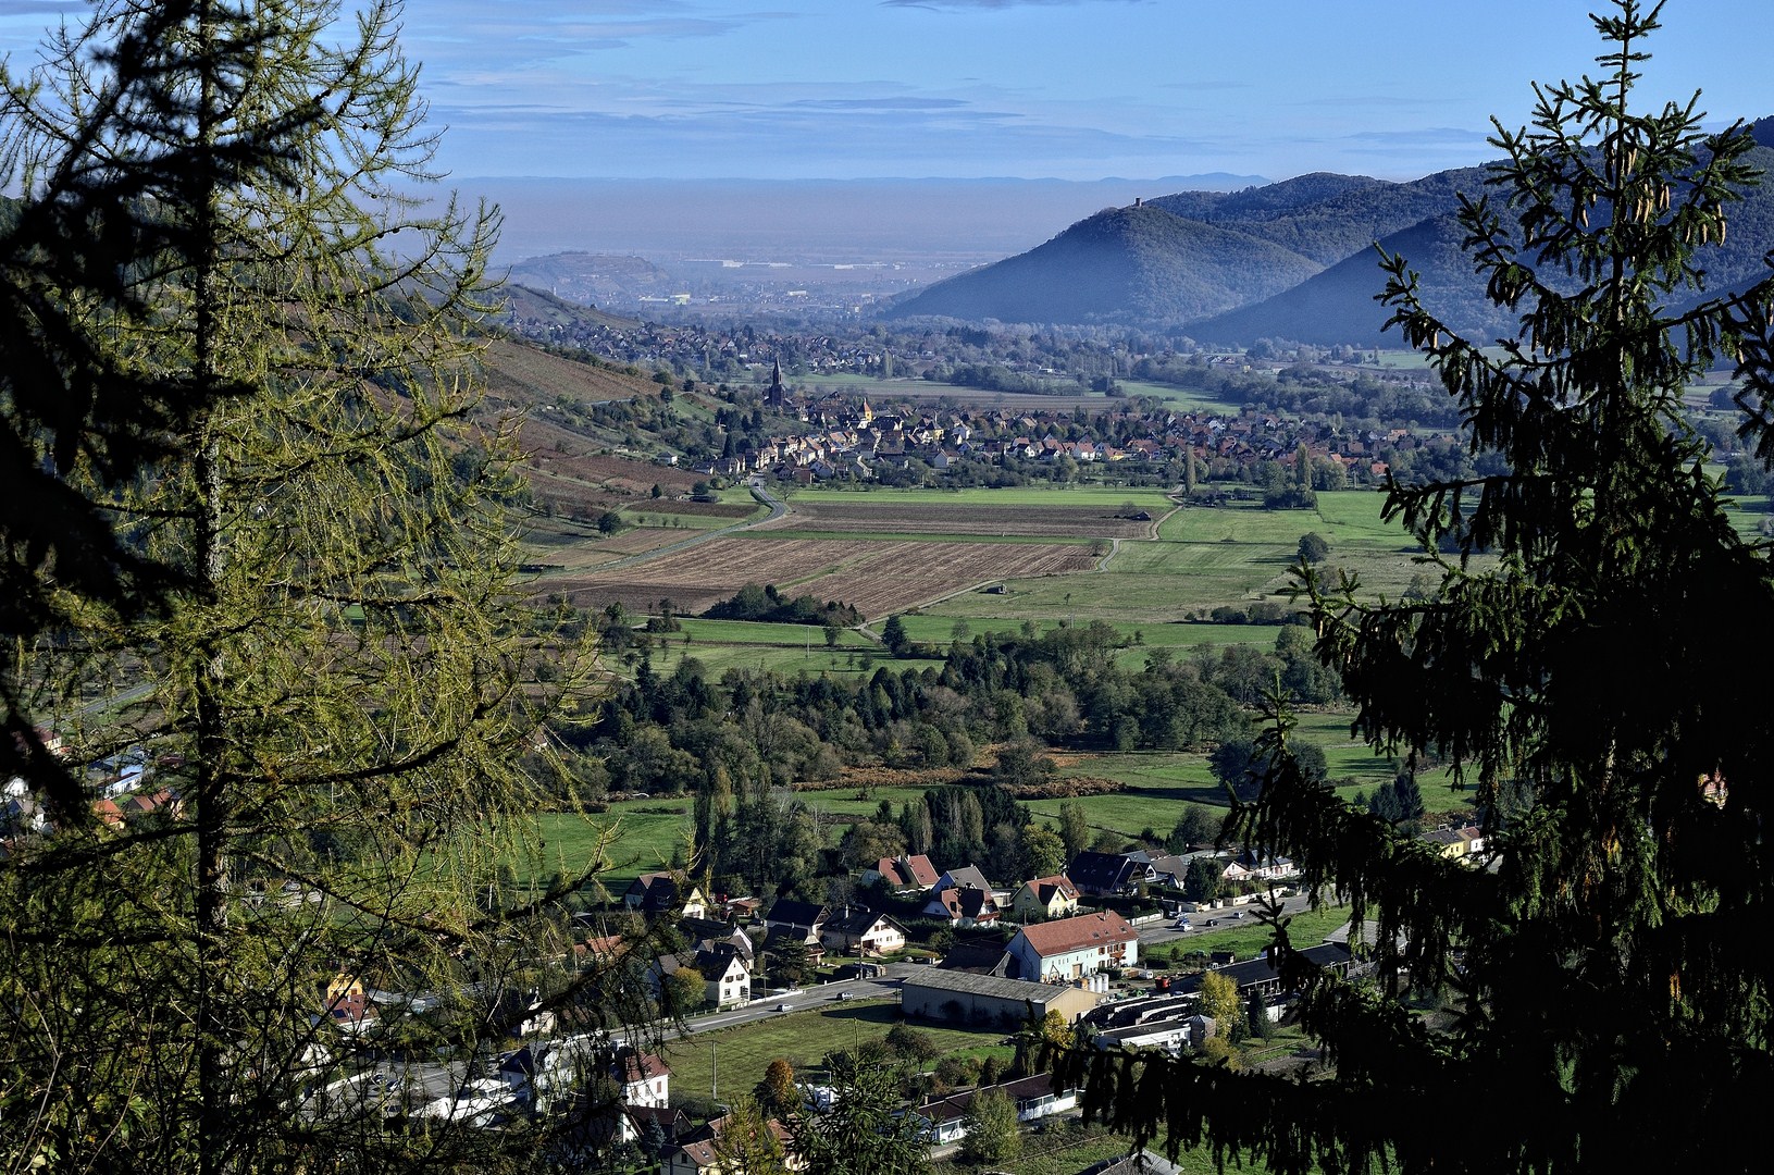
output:
[[[174,458],[229,390],[115,341],[151,327],[160,275],[200,250],[190,224],[165,215],[190,179],[227,169],[275,183],[319,117],[296,106],[216,144],[154,135],[181,101],[161,44],[193,11],[172,0],[108,44],[82,39],[103,78],[66,30],[44,69],[0,62],[0,774],[30,781],[62,822],[83,806],[39,728],[53,698],[28,669],[32,643],[85,603],[124,616],[165,605],[181,570],[117,525],[114,499]]]

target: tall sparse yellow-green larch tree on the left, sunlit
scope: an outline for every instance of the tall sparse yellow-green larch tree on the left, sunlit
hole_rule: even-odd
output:
[[[51,582],[20,662],[73,761],[138,745],[158,786],[0,866],[0,1152],[23,1163],[500,1170],[545,1145],[353,1081],[396,1045],[477,1063],[582,994],[555,900],[596,864],[502,884],[545,871],[522,763],[580,676],[530,671],[573,650],[511,591],[511,437],[470,421],[497,218],[403,195],[433,144],[396,23],[112,0],[11,91],[14,146],[51,165],[186,162],[138,193],[172,245],[133,261],[128,312],[87,309],[105,362],[190,392],[131,477],[62,470],[170,568],[160,605]],[[112,705],[83,708],[92,685]]]

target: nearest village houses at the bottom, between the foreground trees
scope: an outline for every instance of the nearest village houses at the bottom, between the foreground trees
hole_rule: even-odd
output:
[[[1064,873],[1038,877],[1017,887],[993,889],[974,866],[938,870],[928,857],[905,854],[883,857],[862,870],[860,880],[885,889],[901,903],[915,902],[926,918],[953,927],[992,928],[1015,923],[1002,946],[981,950],[979,941],[1002,935],[972,935],[931,966],[907,967],[899,982],[899,1008],[912,1021],[1017,1031],[1029,1017],[1057,1015],[1077,1026],[1096,1047],[1164,1047],[1181,1051],[1201,1044],[1213,1024],[1197,1008],[1199,978],[1181,978],[1167,990],[1111,999],[1107,974],[1125,974],[1139,964],[1139,934],[1112,909],[1089,909],[1091,898],[1119,898],[1142,886],[1180,879],[1203,854],[1098,854],[1084,852]],[[1286,871],[1284,859],[1261,854],[1213,857],[1226,875],[1274,879]],[[821,905],[779,898],[763,907],[752,898],[711,900],[681,873],[651,871],[637,877],[623,903],[649,921],[665,919],[678,932],[683,950],[646,960],[646,974],[660,992],[672,974],[694,969],[711,1006],[738,1006],[761,998],[759,962],[770,951],[795,951],[809,964],[834,958],[855,960],[859,973],[871,973],[882,957],[898,955],[908,941],[907,927],[891,914],[857,905]],[[1006,927],[1008,928],[1008,927]],[[578,944],[587,958],[616,958],[632,950],[633,939],[589,937]],[[1306,951],[1311,962],[1346,971],[1354,966],[1346,946],[1327,942]],[[1217,960],[1219,973],[1238,983],[1252,1008],[1284,1003],[1281,978],[1267,958]],[[326,989],[328,1013],[342,1022],[374,1015],[376,992],[341,974]],[[500,1058],[497,1074],[465,1083],[456,1093],[415,1109],[420,1115],[474,1120],[488,1125],[504,1115],[541,1106],[585,1118],[587,1147],[630,1141],[648,1147],[669,1175],[715,1175],[722,1170],[720,1136],[731,1120],[717,1116],[701,1125],[671,1106],[671,1069],[653,1053],[612,1047],[603,1037],[546,1038],[552,1026],[532,1024],[529,1042]],[[619,1090],[614,1104],[578,1102],[589,1095],[585,1065],[607,1070],[603,1097]],[[1024,1076],[997,1086],[1011,1100],[1020,1122],[1075,1109],[1079,1090],[1056,1088],[1047,1074]],[[931,1145],[960,1141],[969,1108],[985,1088],[944,1092],[926,1097],[903,1113],[915,1116]],[[818,1088],[804,1090],[809,1097]],[[564,1099],[564,1100],[562,1100]],[[578,1100],[575,1100],[578,1099]],[[781,1124],[766,1122],[781,1141]],[[795,1170],[793,1157],[789,1170]]]

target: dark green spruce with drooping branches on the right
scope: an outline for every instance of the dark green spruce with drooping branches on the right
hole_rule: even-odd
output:
[[[1141,1138],[1276,1171],[1746,1170],[1737,1124],[1774,1092],[1769,925],[1774,570],[1731,525],[1684,389],[1737,364],[1744,435],[1774,451],[1774,286],[1712,289],[1707,248],[1756,181],[1744,128],[1636,101],[1657,9],[1595,18],[1598,78],[1497,124],[1490,193],[1460,211],[1490,298],[1465,339],[1385,257],[1391,325],[1425,351],[1474,453],[1506,472],[1394,485],[1387,513],[1449,548],[1433,596],[1297,573],[1357,729],[1474,790],[1488,864],[1339,800],[1268,731],[1231,834],[1293,857],[1378,923],[1375,978],[1276,948],[1334,1081],[1160,1058],[1095,1063],[1089,1102]],[[1483,554],[1483,557],[1480,557]],[[1409,989],[1455,1010],[1432,1028]],[[1086,1067],[1086,1058],[1075,1058]],[[1495,1120],[1449,1131],[1449,1113]]]

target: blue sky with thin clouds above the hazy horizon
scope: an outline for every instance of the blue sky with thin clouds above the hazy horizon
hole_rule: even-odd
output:
[[[408,0],[454,176],[1100,179],[1478,163],[1598,0]],[[0,0],[0,46],[83,5]],[[1774,114],[1769,0],[1669,0],[1646,94]],[[23,55],[21,55],[23,53]]]

